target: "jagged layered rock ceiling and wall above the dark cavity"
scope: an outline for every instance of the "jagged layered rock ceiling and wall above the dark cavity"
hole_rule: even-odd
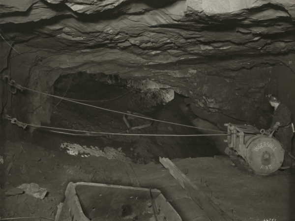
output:
[[[77,72],[148,79],[220,127],[266,126],[266,93],[295,111],[294,0],[2,0],[0,24],[0,73],[32,89]],[[43,95],[14,95],[17,106],[50,119]]]

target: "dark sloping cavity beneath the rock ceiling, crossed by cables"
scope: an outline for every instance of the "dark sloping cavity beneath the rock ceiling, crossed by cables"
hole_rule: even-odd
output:
[[[156,163],[159,156],[175,159],[221,154],[210,138],[177,137],[206,134],[206,131],[146,119],[193,126],[193,113],[183,112],[181,107],[185,105],[185,97],[176,92],[173,92],[174,99],[164,104],[159,94],[163,95],[166,89],[162,93],[159,92],[161,89],[143,91],[117,76],[85,73],[62,75],[54,88],[56,96],[73,99],[74,102],[54,98],[48,126],[56,129],[45,130],[51,133],[34,131],[37,144],[42,143],[49,148],[54,144],[80,156],[109,156],[112,152],[110,158],[142,164]]]

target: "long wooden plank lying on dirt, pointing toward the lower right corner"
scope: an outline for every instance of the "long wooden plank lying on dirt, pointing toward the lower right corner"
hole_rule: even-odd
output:
[[[198,188],[177,166],[168,158],[161,158],[160,163],[169,170],[171,175],[179,182],[181,187],[200,206],[212,221],[232,221],[232,219],[217,206],[210,197]]]

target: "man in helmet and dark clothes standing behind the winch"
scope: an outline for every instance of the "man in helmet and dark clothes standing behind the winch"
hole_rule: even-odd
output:
[[[267,95],[269,104],[274,108],[272,115],[272,121],[270,128],[266,131],[267,134],[270,134],[271,131],[275,131],[274,136],[277,138],[285,149],[285,156],[283,166],[289,166],[291,171],[292,169],[292,158],[288,153],[292,154],[292,137],[293,129],[291,122],[291,111],[284,105],[281,104],[279,99],[269,94]]]

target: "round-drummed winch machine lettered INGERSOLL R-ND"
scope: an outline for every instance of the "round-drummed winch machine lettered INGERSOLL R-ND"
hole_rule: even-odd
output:
[[[225,124],[228,136],[225,142],[228,155],[241,156],[256,174],[269,175],[278,170],[284,161],[282,144],[265,130],[251,125]]]

